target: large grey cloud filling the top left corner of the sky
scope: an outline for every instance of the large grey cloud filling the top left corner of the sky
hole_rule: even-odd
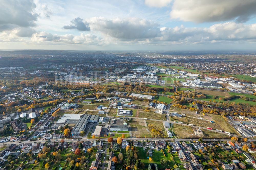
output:
[[[38,15],[34,13],[36,5],[32,0],[0,0],[0,4],[0,31],[36,25]]]

